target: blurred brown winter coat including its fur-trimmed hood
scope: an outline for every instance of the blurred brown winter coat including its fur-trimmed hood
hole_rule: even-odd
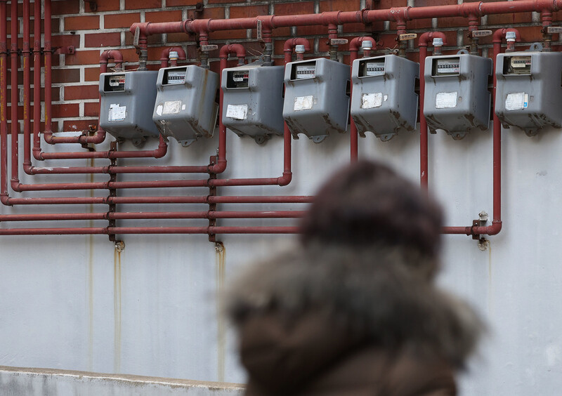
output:
[[[405,249],[298,248],[233,286],[247,395],[456,395],[481,322]]]

